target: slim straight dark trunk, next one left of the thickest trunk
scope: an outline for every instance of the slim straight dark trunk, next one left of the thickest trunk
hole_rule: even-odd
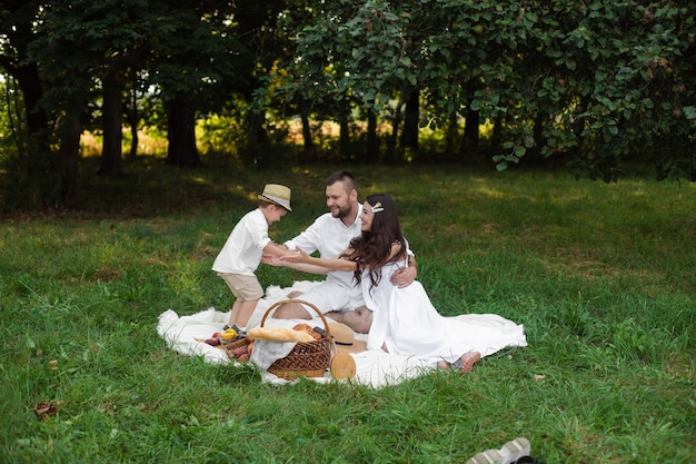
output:
[[[119,79],[113,73],[103,79],[103,147],[101,150],[101,166],[99,174],[106,176],[121,176],[123,168],[122,158],[122,118],[123,101],[121,100],[122,88]]]

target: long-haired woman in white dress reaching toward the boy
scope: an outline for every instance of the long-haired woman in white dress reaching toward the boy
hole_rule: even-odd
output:
[[[315,258],[300,250],[281,259],[355,273],[372,309],[368,349],[415,356],[440,368],[454,364],[467,373],[481,356],[506,346],[526,345],[523,326],[481,326],[444,317],[419,282],[404,288],[394,286],[391,275],[408,264],[408,243],[396,205],[388,195],[370,195],[361,215],[362,234],[337,258]]]

